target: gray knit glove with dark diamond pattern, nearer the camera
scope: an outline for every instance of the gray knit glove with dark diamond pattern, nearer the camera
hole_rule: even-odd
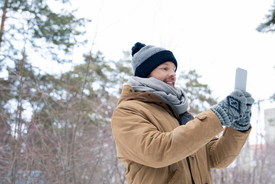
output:
[[[222,126],[230,126],[246,116],[247,100],[241,90],[234,90],[229,96],[210,109],[215,112]]]

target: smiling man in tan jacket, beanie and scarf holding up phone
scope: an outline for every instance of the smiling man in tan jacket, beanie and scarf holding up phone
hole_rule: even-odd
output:
[[[246,142],[254,99],[234,90],[194,118],[186,94],[174,86],[172,52],[137,42],[132,56],[135,77],[123,86],[112,117],[127,183],[212,183],[210,169],[229,166]]]

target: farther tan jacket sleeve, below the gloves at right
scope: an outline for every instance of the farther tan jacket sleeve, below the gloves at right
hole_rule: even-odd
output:
[[[232,127],[226,127],[219,139],[208,143],[211,168],[228,167],[238,156],[245,144],[252,127],[241,132]]]

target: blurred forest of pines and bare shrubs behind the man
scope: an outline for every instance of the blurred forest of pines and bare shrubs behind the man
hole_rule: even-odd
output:
[[[47,2],[0,0],[0,72],[8,73],[0,78],[0,183],[126,183],[110,121],[132,75],[130,51],[106,60],[91,45],[83,62],[67,72],[48,74],[34,66],[39,60],[70,63],[73,48],[87,41],[91,20],[70,8],[54,12]],[[257,31],[274,32],[274,22],[275,4]],[[178,76],[179,87],[196,99],[190,101],[193,113],[217,102],[195,70]],[[212,171],[213,182],[272,183],[274,146],[251,151],[247,144],[229,168]]]

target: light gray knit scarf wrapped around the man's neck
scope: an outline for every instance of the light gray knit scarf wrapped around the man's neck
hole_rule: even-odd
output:
[[[149,91],[161,97],[176,109],[178,114],[184,113],[189,108],[188,98],[182,89],[173,88],[154,77],[130,77],[127,84],[131,85],[135,91]]]

